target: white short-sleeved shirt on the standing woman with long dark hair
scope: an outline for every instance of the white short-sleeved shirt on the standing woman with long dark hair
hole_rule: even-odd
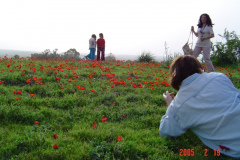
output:
[[[198,28],[198,40],[196,43],[197,47],[211,47],[211,41],[210,39],[205,39],[204,41],[201,41],[201,37],[208,37],[213,33],[213,29],[211,26],[206,25],[205,27]]]

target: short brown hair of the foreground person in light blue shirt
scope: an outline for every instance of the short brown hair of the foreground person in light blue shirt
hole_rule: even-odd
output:
[[[194,73],[202,73],[203,67],[200,62],[192,56],[179,56],[170,65],[170,85],[179,90],[184,79]]]

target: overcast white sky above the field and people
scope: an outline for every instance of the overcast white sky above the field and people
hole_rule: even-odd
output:
[[[0,0],[0,48],[39,51],[75,48],[89,52],[92,34],[104,34],[106,53],[164,55],[182,52],[192,25],[202,13],[224,29],[240,34],[239,0]],[[196,37],[194,37],[194,43]]]

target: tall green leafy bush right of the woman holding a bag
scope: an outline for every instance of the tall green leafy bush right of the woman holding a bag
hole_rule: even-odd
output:
[[[236,64],[240,62],[240,40],[235,31],[225,29],[223,36],[226,43],[216,42],[212,45],[213,54],[211,59],[215,65]]]

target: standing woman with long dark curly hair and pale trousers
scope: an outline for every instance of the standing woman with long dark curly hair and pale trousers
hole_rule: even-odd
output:
[[[210,51],[211,51],[211,41],[210,38],[214,37],[213,29],[212,29],[212,20],[208,14],[202,14],[199,18],[198,22],[198,30],[194,31],[194,27],[192,26],[191,30],[198,37],[196,42],[196,46],[193,51],[193,56],[198,57],[201,51],[203,51],[203,58],[207,66],[208,72],[213,72],[214,67],[212,61],[210,60]]]

